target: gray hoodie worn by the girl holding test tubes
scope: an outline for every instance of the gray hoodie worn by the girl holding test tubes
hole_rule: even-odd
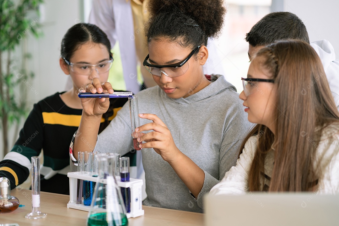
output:
[[[218,78],[219,77],[219,78]],[[223,76],[186,98],[171,99],[155,86],[138,93],[139,112],[156,114],[171,131],[176,146],[204,170],[203,187],[195,199],[173,168],[153,148],[143,148],[148,206],[202,212],[202,197],[235,165],[251,123],[235,87]],[[140,119],[140,124],[149,123]],[[146,131],[147,132],[147,131]],[[128,104],[100,133],[95,151],[133,150]]]

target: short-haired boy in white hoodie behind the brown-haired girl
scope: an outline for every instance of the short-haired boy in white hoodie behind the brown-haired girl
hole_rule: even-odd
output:
[[[262,47],[279,40],[297,39],[310,43],[306,26],[297,15],[290,12],[274,12],[259,20],[246,34],[248,42],[248,58],[252,57]],[[336,60],[334,48],[327,40],[310,43],[319,55],[325,70],[328,84],[339,109],[339,60]],[[307,87],[301,90],[305,95]]]

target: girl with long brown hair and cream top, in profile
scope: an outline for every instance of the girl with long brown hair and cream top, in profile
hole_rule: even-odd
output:
[[[240,98],[257,125],[211,193],[339,192],[339,113],[311,45],[291,40],[260,49],[242,80]]]

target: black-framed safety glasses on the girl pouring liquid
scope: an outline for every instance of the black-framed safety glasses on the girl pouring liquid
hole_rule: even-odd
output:
[[[175,64],[167,64],[167,65],[154,65],[151,64],[148,59],[149,59],[149,54],[146,56],[144,62],[142,63],[146,69],[149,71],[149,73],[151,73],[152,75],[161,77],[161,73],[163,73],[164,75],[174,78],[174,77],[178,77],[181,76],[183,74],[186,73],[186,71],[189,68],[189,64],[188,64],[188,60],[200,49],[200,45],[193,49],[192,52],[190,53],[190,55],[188,55],[186,57],[186,59],[184,59],[183,61],[180,61],[178,63]],[[166,69],[164,69],[166,68]]]

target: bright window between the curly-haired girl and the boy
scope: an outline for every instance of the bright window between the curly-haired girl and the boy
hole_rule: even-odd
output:
[[[263,16],[271,12],[271,5],[272,0],[226,1],[225,25],[217,43],[224,76],[237,88],[238,93],[243,89],[241,77],[247,77],[250,65],[247,55],[248,43],[245,41],[246,33]]]

